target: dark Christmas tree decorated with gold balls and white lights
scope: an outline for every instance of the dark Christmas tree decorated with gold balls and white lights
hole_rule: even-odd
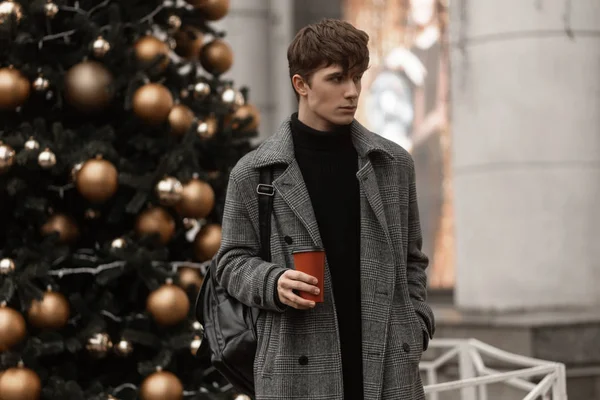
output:
[[[259,114],[227,0],[0,0],[0,399],[233,399],[194,302]]]

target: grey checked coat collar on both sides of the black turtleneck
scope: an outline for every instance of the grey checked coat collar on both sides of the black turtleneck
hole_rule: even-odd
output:
[[[394,158],[392,151],[386,143],[370,132],[358,121],[350,125],[352,143],[361,158],[368,157],[371,153],[380,153],[389,158]],[[288,117],[279,127],[277,132],[266,139],[257,149],[252,160],[255,168],[262,168],[275,164],[291,164],[294,160],[294,142],[292,139],[291,118]]]

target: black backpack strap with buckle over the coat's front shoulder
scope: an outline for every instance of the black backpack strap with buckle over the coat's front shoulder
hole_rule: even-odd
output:
[[[271,261],[271,212],[273,211],[273,169],[261,168],[260,179],[256,187],[258,193],[258,222],[260,227],[260,256]]]

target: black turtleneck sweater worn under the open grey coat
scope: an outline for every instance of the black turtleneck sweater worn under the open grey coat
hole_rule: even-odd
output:
[[[297,113],[292,115],[291,123],[296,161],[308,189],[331,273],[344,398],[362,398],[358,155],[349,125],[321,132],[300,122]]]

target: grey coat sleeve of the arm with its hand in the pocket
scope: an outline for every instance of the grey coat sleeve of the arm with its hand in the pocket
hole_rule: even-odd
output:
[[[408,203],[408,251],[406,269],[408,275],[408,292],[411,301],[420,317],[421,327],[426,334],[424,337],[424,348],[427,348],[429,339],[435,333],[435,319],[431,307],[427,305],[427,274],[425,270],[429,265],[429,259],[422,252],[423,238],[421,236],[421,224],[419,221],[419,206],[417,204],[417,188],[415,180],[415,168],[410,158],[409,170],[409,203]],[[424,335],[425,336],[425,335]]]

